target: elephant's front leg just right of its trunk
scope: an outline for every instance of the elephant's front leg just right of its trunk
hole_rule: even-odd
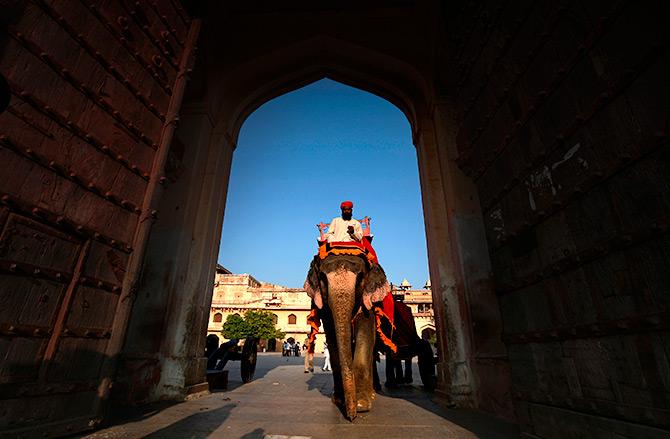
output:
[[[375,318],[372,313],[359,314],[355,323],[356,350],[354,352],[354,381],[356,382],[356,410],[367,412],[372,408],[372,362],[375,344]]]

